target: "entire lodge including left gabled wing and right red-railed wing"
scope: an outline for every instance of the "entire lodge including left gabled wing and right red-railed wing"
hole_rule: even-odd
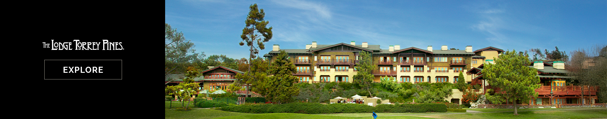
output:
[[[354,67],[359,62],[359,53],[367,51],[372,53],[373,65],[377,65],[371,72],[375,76],[374,82],[381,82],[380,77],[388,76],[398,83],[456,83],[459,72],[463,72],[467,83],[483,85],[478,91],[480,94],[486,93],[484,89],[493,88],[483,79],[483,64],[493,63],[494,57],[497,58],[504,52],[495,47],[473,51],[470,45],[464,50],[449,50],[447,45],[439,48],[430,45],[426,49],[390,45],[387,50],[383,50],[379,45],[368,45],[367,42],[319,45],[313,41],[305,45],[305,49],[280,49],[280,45],[274,44],[273,50],[263,57],[271,63],[276,60],[280,50],[288,52],[289,59],[296,65],[297,72],[293,75],[299,77],[300,83],[351,83],[358,72]],[[538,77],[541,80],[538,84],[541,87],[535,90],[538,92],[538,98],[522,102],[523,105],[591,104],[597,100],[598,86],[570,86],[565,83],[568,77],[564,62],[534,61],[529,67],[538,69]],[[243,72],[215,66],[201,73],[204,77],[194,80],[203,85],[201,89],[214,91],[227,89],[227,86],[234,82],[236,73]],[[171,77],[175,76],[165,76],[165,83]],[[176,81],[178,83],[179,80]],[[493,89],[500,93],[498,88]],[[242,94],[242,91],[240,93]],[[461,104],[461,94],[462,92],[454,90],[453,95],[445,100]]]

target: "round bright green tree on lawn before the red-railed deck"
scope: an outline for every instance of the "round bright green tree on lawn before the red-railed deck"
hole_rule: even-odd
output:
[[[540,88],[537,69],[527,66],[527,57],[515,50],[506,51],[495,59],[495,64],[487,63],[482,71],[490,85],[501,89],[494,95],[486,95],[487,99],[492,103],[502,103],[507,98],[513,102],[515,115],[518,115],[517,100],[524,102],[537,97],[535,89]]]

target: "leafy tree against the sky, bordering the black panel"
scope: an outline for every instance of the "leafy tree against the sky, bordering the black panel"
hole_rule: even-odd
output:
[[[184,74],[192,62],[205,57],[205,52],[194,53],[195,51],[194,43],[186,40],[183,33],[177,33],[177,28],[164,23],[164,76]]]

